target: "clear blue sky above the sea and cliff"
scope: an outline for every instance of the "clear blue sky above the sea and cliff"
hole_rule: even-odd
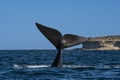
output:
[[[62,34],[120,35],[120,0],[1,0],[0,50],[54,49],[35,22]]]

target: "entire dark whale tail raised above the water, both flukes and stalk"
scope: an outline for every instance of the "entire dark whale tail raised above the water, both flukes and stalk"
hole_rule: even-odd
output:
[[[62,35],[58,30],[35,23],[38,30],[56,47],[57,54],[51,67],[62,67],[62,50],[81,44],[88,40],[83,36],[74,34]]]

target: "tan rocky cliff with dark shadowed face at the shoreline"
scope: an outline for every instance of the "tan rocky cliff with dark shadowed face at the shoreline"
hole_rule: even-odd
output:
[[[104,36],[88,38],[83,50],[120,50],[120,36]]]

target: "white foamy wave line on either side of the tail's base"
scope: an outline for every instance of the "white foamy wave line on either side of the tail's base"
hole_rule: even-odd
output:
[[[14,68],[47,68],[50,65],[19,65],[14,64]],[[120,69],[120,65],[100,65],[100,66],[87,66],[87,65],[63,65],[63,68],[85,68],[85,69]]]

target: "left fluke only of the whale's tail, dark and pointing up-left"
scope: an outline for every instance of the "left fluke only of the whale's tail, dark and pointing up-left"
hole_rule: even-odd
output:
[[[38,23],[36,23],[36,26],[56,48],[60,47],[62,34],[58,30],[46,27]]]

